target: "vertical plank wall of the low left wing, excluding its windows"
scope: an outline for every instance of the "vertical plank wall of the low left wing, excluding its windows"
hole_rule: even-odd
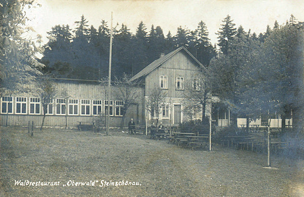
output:
[[[71,80],[57,80],[56,82],[56,89],[57,89],[57,98],[62,98],[61,92],[65,88],[68,90],[71,99],[78,99],[79,104],[81,99],[91,100],[91,115],[90,116],[81,116],[81,115],[68,115],[67,122],[68,126],[77,126],[79,122],[93,122],[98,117],[92,115],[92,100],[105,100],[104,94],[104,87],[99,85],[97,82],[86,82],[86,81],[71,81]],[[113,101],[115,101],[115,97],[113,95],[113,89],[115,86],[111,86],[111,97]],[[128,121],[131,118],[134,118],[135,122],[144,122],[144,114],[142,106],[143,104],[143,88],[137,88],[138,93],[140,96],[138,97],[137,105],[132,105],[126,114],[124,125],[128,124]],[[0,115],[0,124],[6,125],[6,119],[8,117],[8,125],[28,125],[28,121],[34,121],[35,125],[41,125],[43,115],[41,110],[41,115],[29,115],[29,97],[35,97],[34,93],[29,94],[17,94],[14,96],[14,105],[13,105],[13,112],[15,112],[15,96],[27,96],[27,114],[26,115],[17,115],[17,114],[1,114]],[[55,112],[55,108],[53,108]],[[80,107],[79,107],[79,114],[80,114]],[[122,117],[111,117],[110,118],[110,126],[120,126]],[[65,116],[64,115],[47,115],[45,119],[45,126],[65,126]]]

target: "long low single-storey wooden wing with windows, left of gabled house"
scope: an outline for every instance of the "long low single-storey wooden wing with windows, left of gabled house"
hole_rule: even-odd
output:
[[[100,115],[104,115],[108,107],[105,98],[107,87],[100,85],[95,80],[77,79],[54,79],[57,96],[53,103],[48,105],[48,112],[45,118],[45,126],[65,126],[65,115],[67,113],[67,125],[77,126],[79,122],[94,122]],[[112,86],[111,92],[115,89]],[[61,96],[63,89],[69,94],[68,103],[65,103]],[[143,95],[143,88],[138,88],[138,93]],[[125,123],[127,125],[130,118],[137,123],[143,121],[142,99],[139,96],[136,104],[128,109]],[[115,97],[109,102],[110,126],[119,126],[122,121],[121,107],[123,102]],[[36,126],[41,125],[43,119],[43,108],[40,98],[35,93],[19,93],[16,95],[6,95],[1,99],[1,125],[28,125],[28,121],[33,121]]]

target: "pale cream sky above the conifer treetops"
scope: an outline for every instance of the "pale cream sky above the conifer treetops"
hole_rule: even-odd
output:
[[[168,31],[175,35],[177,27],[190,30],[197,28],[203,21],[207,25],[212,44],[217,42],[215,34],[222,20],[230,15],[236,26],[242,25],[245,31],[251,33],[265,32],[267,25],[273,27],[275,21],[281,25],[293,14],[298,21],[304,21],[304,1],[299,0],[36,0],[41,7],[30,9],[27,22],[36,34],[43,36],[44,43],[48,41],[47,31],[55,25],[70,25],[75,27],[84,15],[89,25],[96,29],[105,20],[110,26],[111,12],[113,24],[127,25],[132,33],[140,21],[146,25],[147,31],[151,25],[161,26],[164,34]]]

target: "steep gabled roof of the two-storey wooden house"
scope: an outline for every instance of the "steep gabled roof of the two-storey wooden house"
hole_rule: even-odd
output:
[[[152,62],[151,64],[149,64],[145,68],[143,68],[139,73],[134,75],[130,80],[133,81],[133,80],[138,79],[142,76],[148,75],[150,72],[152,72],[157,67],[161,66],[164,62],[166,62],[169,58],[171,58],[172,56],[174,56],[175,54],[177,54],[181,50],[184,50],[189,56],[191,56],[191,58],[195,62],[197,62],[198,65],[203,66],[190,52],[188,52],[188,50],[186,50],[185,47],[181,46],[181,47],[177,48],[176,50],[174,50],[173,52],[155,60],[154,62]]]

